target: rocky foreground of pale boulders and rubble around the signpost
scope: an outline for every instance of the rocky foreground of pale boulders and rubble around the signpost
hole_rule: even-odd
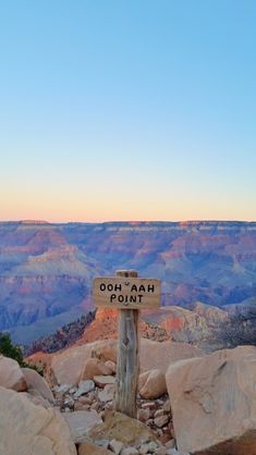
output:
[[[39,358],[39,357],[38,357]],[[117,342],[0,356],[1,455],[256,455],[256,347],[141,342],[137,418],[114,410]]]

